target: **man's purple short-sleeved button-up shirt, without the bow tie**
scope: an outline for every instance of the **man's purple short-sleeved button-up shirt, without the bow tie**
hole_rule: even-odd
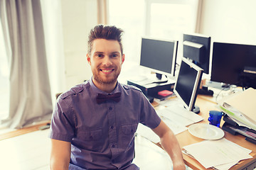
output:
[[[118,103],[97,104],[97,94],[107,93],[90,79],[58,98],[50,138],[71,142],[70,164],[83,169],[139,169],[132,164],[138,123],[156,128],[161,119],[139,89],[117,83],[111,94],[117,92]]]

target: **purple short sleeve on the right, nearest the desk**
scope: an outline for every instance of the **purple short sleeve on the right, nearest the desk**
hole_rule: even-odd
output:
[[[161,118],[157,115],[154,107],[149,103],[146,97],[142,94],[141,98],[141,113],[140,123],[154,129],[161,123]]]

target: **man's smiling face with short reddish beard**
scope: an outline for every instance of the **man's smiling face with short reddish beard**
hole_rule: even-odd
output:
[[[97,84],[115,84],[121,72],[124,55],[117,40],[96,39],[92,42],[92,52],[87,54],[93,80]]]

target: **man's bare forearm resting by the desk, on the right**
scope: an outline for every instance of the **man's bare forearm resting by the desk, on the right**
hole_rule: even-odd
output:
[[[183,162],[181,153],[181,147],[178,144],[174,132],[161,120],[158,127],[154,128],[153,131],[160,137],[161,146],[169,154],[174,165],[174,170],[186,169]]]

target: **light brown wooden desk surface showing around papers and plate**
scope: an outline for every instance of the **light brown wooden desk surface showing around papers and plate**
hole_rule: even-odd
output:
[[[198,95],[198,97],[196,98],[196,106],[199,106],[200,108],[200,113],[198,115],[201,115],[204,118],[204,120],[201,121],[200,123],[208,123],[209,111],[211,110],[218,111],[218,109],[215,108],[216,104],[217,103],[214,102],[212,97]],[[223,123],[224,123],[223,120],[221,120],[220,126],[222,126]],[[191,145],[193,143],[203,141],[203,139],[200,139],[198,137],[194,137],[193,135],[191,135],[188,132],[188,130],[181,132],[180,134],[176,135],[176,137],[178,139],[178,142],[181,148],[186,145]],[[240,161],[239,164],[231,167],[230,170],[245,169],[245,167],[249,166],[253,162],[256,162],[256,145],[255,144],[251,142],[247,142],[247,140],[245,140],[245,137],[242,135],[231,135],[229,132],[225,132],[224,137],[227,140],[230,140],[231,142],[235,142],[236,144],[242,147],[252,150],[252,152],[250,153],[250,155],[253,157],[252,159],[245,159],[243,161]],[[186,154],[183,154],[183,159],[186,165],[191,167],[191,169],[198,169],[198,170],[205,169],[199,162],[196,161],[196,159],[188,157]]]

